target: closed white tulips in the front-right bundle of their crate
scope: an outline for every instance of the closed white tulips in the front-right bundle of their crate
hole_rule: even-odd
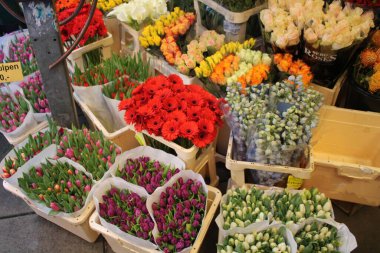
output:
[[[328,224],[314,221],[305,225],[295,235],[298,252],[338,252],[338,230]]]

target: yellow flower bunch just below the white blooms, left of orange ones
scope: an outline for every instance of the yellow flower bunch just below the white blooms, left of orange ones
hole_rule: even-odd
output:
[[[139,37],[141,46],[144,48],[161,45],[162,37],[165,35],[165,28],[175,23],[185,12],[180,8],[174,8],[174,11],[167,15],[161,16],[153,25],[146,26]]]

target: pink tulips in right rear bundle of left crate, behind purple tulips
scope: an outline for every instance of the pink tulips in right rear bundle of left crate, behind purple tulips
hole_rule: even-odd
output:
[[[58,157],[67,157],[81,164],[94,180],[100,180],[115,162],[121,149],[104,138],[99,131],[73,128],[62,136],[57,149]]]

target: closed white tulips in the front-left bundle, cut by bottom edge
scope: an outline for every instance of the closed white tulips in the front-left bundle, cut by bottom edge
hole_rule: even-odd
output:
[[[237,233],[227,236],[223,245],[217,245],[219,253],[233,252],[282,252],[290,253],[291,248],[286,243],[285,227],[272,227],[260,232],[249,234]]]

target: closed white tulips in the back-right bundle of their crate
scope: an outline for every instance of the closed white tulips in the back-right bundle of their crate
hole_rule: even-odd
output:
[[[273,218],[286,225],[302,223],[309,217],[329,219],[332,217],[331,200],[318,189],[304,189],[300,193],[287,190],[275,193]]]

